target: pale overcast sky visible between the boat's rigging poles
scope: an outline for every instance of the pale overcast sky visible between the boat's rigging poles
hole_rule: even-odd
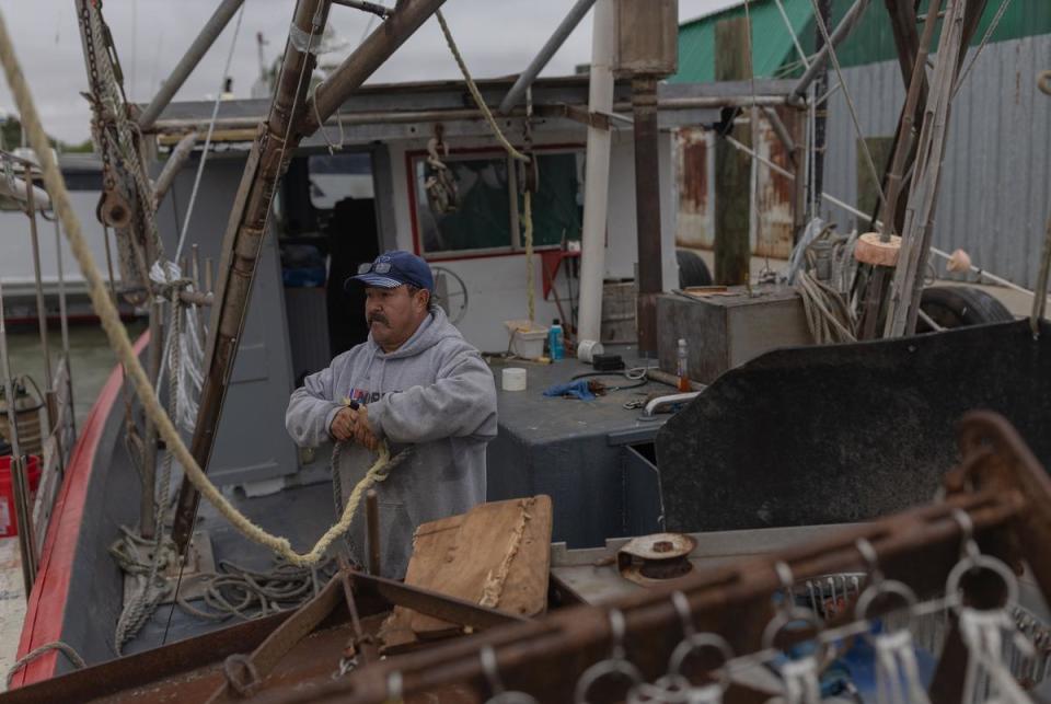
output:
[[[385,0],[391,5],[393,0]],[[573,0],[449,0],[446,19],[472,73],[503,76],[520,71],[565,15]],[[106,0],[104,14],[114,33],[129,97],[146,102],[178,61],[218,0]],[[705,14],[734,0],[680,0],[680,20]],[[230,74],[234,94],[247,97],[259,74],[256,34],[267,62],[284,49],[294,0],[245,0]],[[89,136],[88,89],[73,0],[0,0],[37,108],[47,130],[69,142]],[[347,43],[346,54],[363,36],[370,18],[333,7],[330,25]],[[222,81],[236,16],[189,77],[176,100],[215,96]],[[548,64],[545,76],[573,72],[590,55],[590,14]],[[429,20],[373,77],[373,81],[458,78],[437,21]],[[0,109],[13,112],[11,93],[0,81]]]

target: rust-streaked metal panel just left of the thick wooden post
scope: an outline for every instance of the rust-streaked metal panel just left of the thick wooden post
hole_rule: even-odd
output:
[[[711,250],[715,245],[714,135],[702,127],[675,130],[675,185],[679,218],[675,244]]]

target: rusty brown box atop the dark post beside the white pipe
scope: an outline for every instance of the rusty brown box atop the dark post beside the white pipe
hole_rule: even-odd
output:
[[[678,0],[616,0],[621,76],[671,76],[679,70]]]

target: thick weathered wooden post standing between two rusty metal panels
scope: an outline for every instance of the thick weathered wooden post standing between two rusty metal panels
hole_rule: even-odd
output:
[[[751,41],[746,18],[715,25],[715,80],[748,79],[752,74]],[[732,127],[735,139],[751,148],[751,128]],[[725,139],[715,143],[715,282],[748,284],[751,266],[751,161]]]

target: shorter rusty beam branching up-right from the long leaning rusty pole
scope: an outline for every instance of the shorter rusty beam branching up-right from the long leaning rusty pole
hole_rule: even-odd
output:
[[[332,117],[344,101],[435,13],[444,0],[406,0],[377,27],[350,56],[314,89],[314,94],[297,123],[297,139],[313,135]],[[293,140],[293,143],[297,140]]]

